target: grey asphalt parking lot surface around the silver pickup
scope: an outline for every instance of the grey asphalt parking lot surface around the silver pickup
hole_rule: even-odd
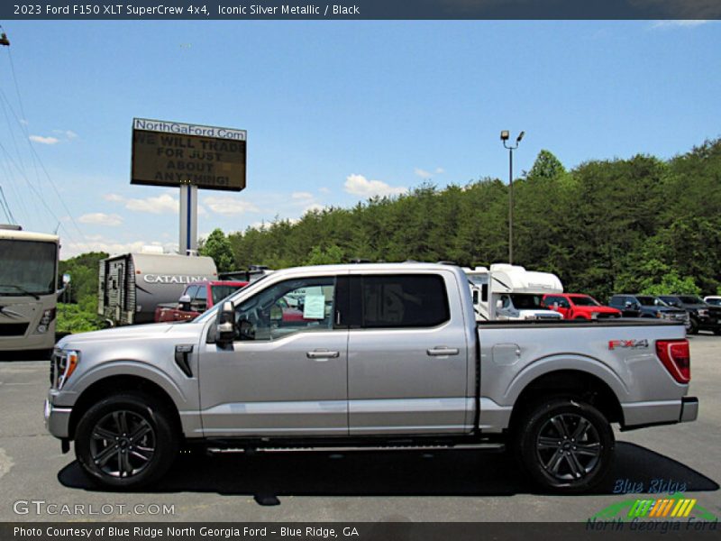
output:
[[[616,432],[594,494],[543,494],[506,454],[181,455],[151,490],[97,489],[43,426],[47,361],[0,361],[0,520],[583,521],[625,491],[681,491],[721,517],[721,336],[689,338],[693,423]],[[627,498],[627,496],[626,496]]]

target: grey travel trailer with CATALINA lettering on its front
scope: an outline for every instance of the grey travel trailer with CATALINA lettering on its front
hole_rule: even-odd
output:
[[[97,313],[113,326],[153,323],[155,307],[177,303],[187,284],[217,279],[210,257],[114,255],[100,261]]]

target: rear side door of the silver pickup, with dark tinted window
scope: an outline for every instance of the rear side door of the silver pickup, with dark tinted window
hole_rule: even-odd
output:
[[[350,291],[351,436],[470,430],[467,367],[475,344],[467,344],[455,275],[351,271]]]

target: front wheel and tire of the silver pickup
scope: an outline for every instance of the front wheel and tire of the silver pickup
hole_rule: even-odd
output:
[[[75,434],[78,463],[91,479],[113,489],[158,481],[175,460],[178,446],[178,429],[168,408],[134,392],[110,396],[89,408]]]

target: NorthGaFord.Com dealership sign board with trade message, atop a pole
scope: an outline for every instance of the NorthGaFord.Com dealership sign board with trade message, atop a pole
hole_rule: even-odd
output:
[[[245,130],[132,120],[131,184],[241,191]]]

